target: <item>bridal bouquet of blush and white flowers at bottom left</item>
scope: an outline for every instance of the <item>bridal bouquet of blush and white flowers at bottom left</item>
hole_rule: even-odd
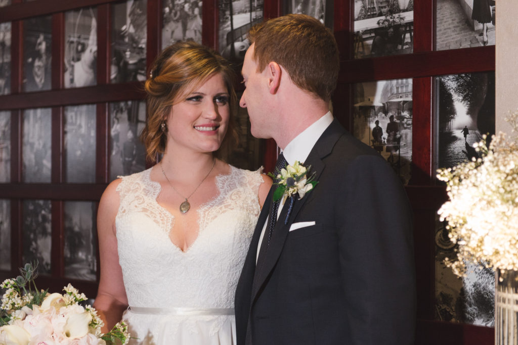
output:
[[[38,290],[34,283],[37,264],[26,264],[21,275],[6,279],[0,307],[0,345],[93,345],[126,344],[130,339],[121,322],[107,333],[103,321],[91,306],[82,306],[87,297],[68,284],[64,293]],[[32,290],[31,290],[32,289]]]

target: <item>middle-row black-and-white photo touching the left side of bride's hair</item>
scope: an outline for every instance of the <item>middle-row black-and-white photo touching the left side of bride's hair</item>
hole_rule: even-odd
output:
[[[146,168],[146,148],[139,140],[146,122],[146,103],[110,103],[110,181]]]

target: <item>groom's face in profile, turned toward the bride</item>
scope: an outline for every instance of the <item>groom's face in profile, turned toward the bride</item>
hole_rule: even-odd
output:
[[[247,108],[250,117],[250,131],[255,138],[271,138],[271,129],[268,128],[274,121],[268,121],[269,92],[265,71],[257,72],[257,62],[254,59],[254,44],[244,55],[243,74],[244,91],[239,105]]]

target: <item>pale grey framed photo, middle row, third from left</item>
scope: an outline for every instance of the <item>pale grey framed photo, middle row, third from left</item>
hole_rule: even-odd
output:
[[[64,108],[65,181],[95,182],[95,104]]]

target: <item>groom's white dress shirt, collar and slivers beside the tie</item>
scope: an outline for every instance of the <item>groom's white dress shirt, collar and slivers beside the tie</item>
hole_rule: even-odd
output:
[[[319,138],[322,136],[322,133],[326,130],[327,127],[329,127],[332,122],[333,114],[328,111],[324,116],[313,122],[308,128],[298,134],[298,136],[290,141],[290,143],[287,144],[286,147],[282,150],[282,154],[284,155],[286,162],[290,165],[293,165],[295,161],[298,160],[300,163],[304,164],[316,141],[319,140]],[[283,206],[284,199],[281,200],[281,204],[279,205],[277,218],[279,218]],[[268,218],[266,218],[266,221],[264,222],[263,230],[261,231],[261,237],[259,237],[255,262],[257,262],[257,258],[259,257],[259,248],[261,248],[261,243],[263,242],[263,237],[267,226]]]

